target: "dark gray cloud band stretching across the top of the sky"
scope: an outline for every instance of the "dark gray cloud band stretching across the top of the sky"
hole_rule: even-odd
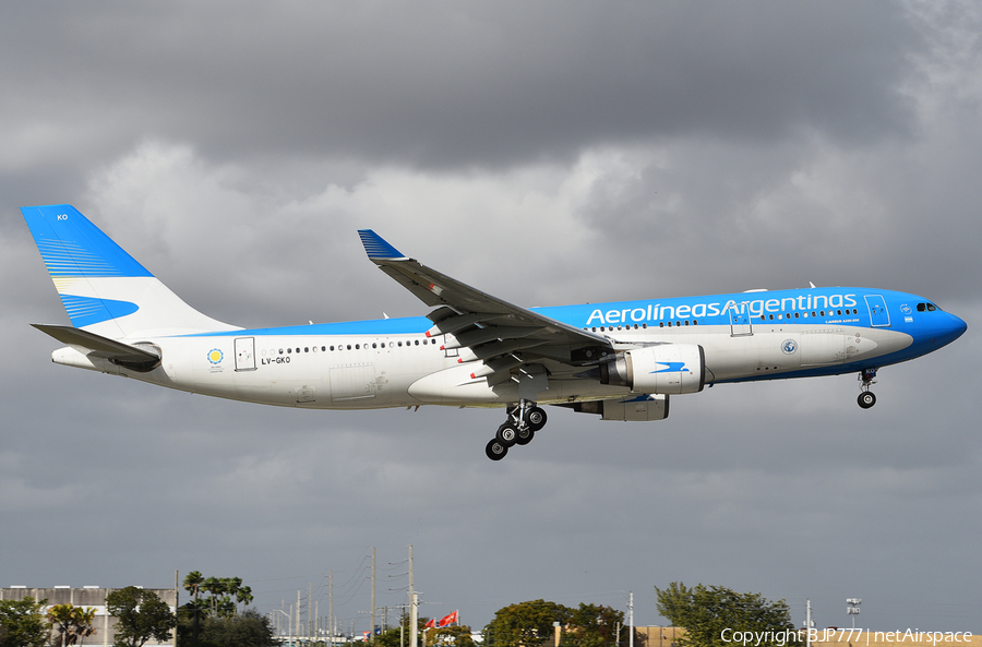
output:
[[[774,141],[806,128],[858,144],[910,128],[897,86],[920,43],[899,5],[447,9],[9,7],[8,110],[111,152],[149,132],[214,158],[442,168],[686,133]]]

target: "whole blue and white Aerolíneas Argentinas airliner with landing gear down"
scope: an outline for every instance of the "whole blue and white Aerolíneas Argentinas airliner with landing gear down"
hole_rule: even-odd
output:
[[[707,385],[859,373],[937,350],[966,323],[914,295],[752,290],[526,309],[359,231],[426,316],[243,330],[197,312],[70,205],[21,208],[71,319],[34,326],[57,363],[230,399],[315,409],[504,407],[493,460],[546,424],[540,405],[661,420]]]

